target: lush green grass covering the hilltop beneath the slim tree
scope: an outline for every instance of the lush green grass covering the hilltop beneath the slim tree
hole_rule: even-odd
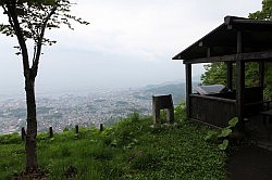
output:
[[[226,179],[226,155],[203,140],[208,129],[188,121],[152,126],[151,118],[132,116],[103,132],[96,128],[38,136],[38,159],[47,179]],[[10,140],[9,140],[10,139]],[[0,179],[24,168],[18,134],[0,136]]]

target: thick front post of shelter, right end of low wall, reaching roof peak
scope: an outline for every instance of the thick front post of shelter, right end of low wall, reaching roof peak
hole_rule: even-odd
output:
[[[242,31],[237,33],[237,54],[243,51]],[[236,113],[239,119],[238,128],[245,130],[244,123],[245,62],[236,61]]]

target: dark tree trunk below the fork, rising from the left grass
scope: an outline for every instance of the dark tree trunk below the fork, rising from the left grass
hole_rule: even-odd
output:
[[[36,102],[35,102],[35,79],[25,78],[26,105],[27,105],[27,130],[26,130],[26,170],[37,171],[37,118],[36,118]]]

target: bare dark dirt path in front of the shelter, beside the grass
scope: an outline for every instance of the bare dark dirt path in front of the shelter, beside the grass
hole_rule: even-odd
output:
[[[227,180],[272,180],[272,152],[256,145],[234,151],[226,166]]]

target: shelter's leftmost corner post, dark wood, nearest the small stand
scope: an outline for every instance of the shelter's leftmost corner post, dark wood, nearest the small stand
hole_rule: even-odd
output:
[[[185,64],[186,70],[186,112],[187,118],[190,118],[190,99],[191,94],[191,64]]]

